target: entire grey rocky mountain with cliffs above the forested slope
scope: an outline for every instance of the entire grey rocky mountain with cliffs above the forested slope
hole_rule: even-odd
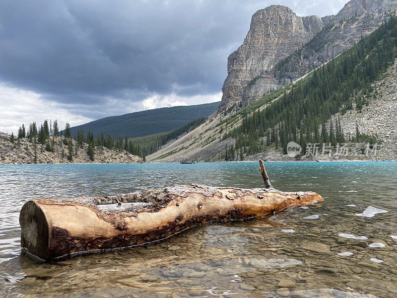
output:
[[[336,15],[297,16],[271,5],[258,10],[243,42],[228,58],[220,109],[246,106],[319,67],[378,28],[395,0],[351,0]]]

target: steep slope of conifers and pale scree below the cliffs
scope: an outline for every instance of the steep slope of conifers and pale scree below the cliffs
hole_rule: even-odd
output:
[[[335,144],[376,142],[377,154],[321,154],[316,159],[396,160],[396,36],[397,18],[392,17],[324,66],[246,107],[213,115],[147,160],[219,161],[230,151],[228,160],[295,160],[284,152],[286,143],[304,142],[299,144],[306,148],[331,142],[322,137],[324,130],[324,138],[331,136],[331,119]]]

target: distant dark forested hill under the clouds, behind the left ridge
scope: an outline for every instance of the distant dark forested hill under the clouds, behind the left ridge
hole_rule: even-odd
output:
[[[140,111],[120,116],[106,117],[83,125],[71,127],[72,135],[77,131],[91,132],[98,137],[105,136],[128,138],[143,137],[168,132],[180,128],[193,120],[207,117],[219,106],[219,102],[193,106],[178,106]]]

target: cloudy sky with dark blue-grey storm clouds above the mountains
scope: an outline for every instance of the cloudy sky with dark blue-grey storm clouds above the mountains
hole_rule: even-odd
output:
[[[0,131],[218,101],[255,11],[324,16],[346,2],[1,0]]]

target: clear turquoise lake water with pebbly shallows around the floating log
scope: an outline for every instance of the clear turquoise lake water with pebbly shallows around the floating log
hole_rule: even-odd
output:
[[[37,264],[19,249],[18,216],[29,199],[188,183],[262,187],[258,164],[0,166],[0,296],[397,297],[397,162],[266,169],[275,188],[316,191],[325,202],[202,226],[146,247]],[[373,215],[364,212],[369,206],[387,213],[355,216]]]

